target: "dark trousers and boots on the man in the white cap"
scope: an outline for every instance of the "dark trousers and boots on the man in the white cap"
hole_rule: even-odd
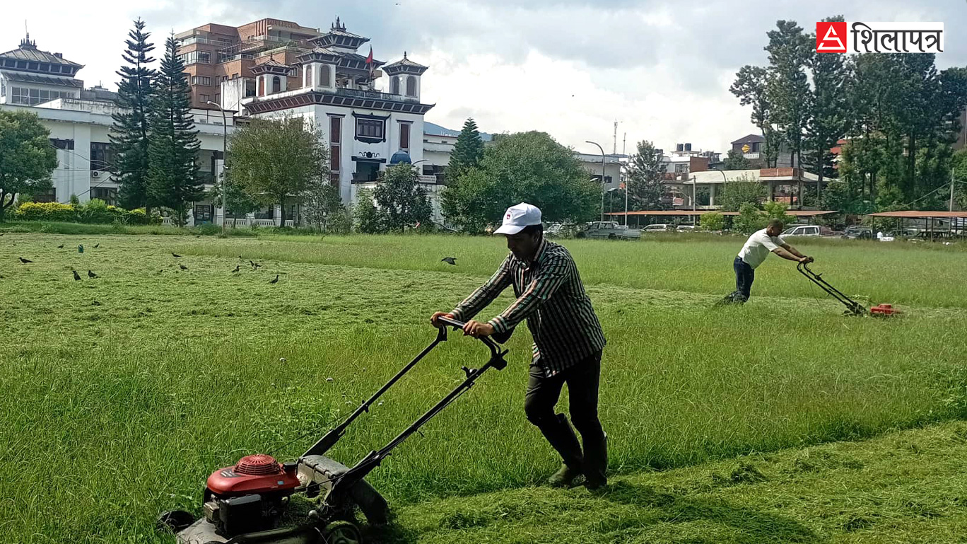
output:
[[[605,436],[598,419],[600,381],[601,351],[598,351],[550,378],[544,376],[540,366],[532,364],[524,396],[527,419],[541,429],[544,438],[561,454],[566,465],[583,468],[589,480],[602,480],[607,468]],[[571,421],[584,442],[583,455],[568,418],[554,412],[565,383],[568,384]]]

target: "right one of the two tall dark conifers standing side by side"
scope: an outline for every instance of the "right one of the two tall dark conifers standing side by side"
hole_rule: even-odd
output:
[[[148,123],[148,197],[175,211],[178,225],[186,221],[186,204],[202,196],[198,176],[198,131],[190,115],[185,63],[178,57],[174,35],[168,37],[161,72],[151,96]]]

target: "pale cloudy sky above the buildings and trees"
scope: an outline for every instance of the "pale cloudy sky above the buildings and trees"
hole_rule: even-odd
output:
[[[348,30],[372,39],[377,59],[407,50],[428,65],[426,120],[459,129],[474,117],[492,133],[542,130],[584,152],[617,150],[627,134],[659,147],[691,142],[724,151],[755,132],[749,110],[728,92],[745,64],[764,64],[766,32],[777,19],[807,31],[815,21],[943,21],[940,68],[967,66],[967,2],[858,0],[44,0],[11,2],[0,18],[0,51],[15,48],[24,21],[31,38],[85,65],[88,85],[115,86],[131,20],[142,17],[156,44],[170,31],[207,22],[239,25],[263,17]],[[368,49],[366,49],[368,52]],[[365,53],[364,53],[365,54]]]

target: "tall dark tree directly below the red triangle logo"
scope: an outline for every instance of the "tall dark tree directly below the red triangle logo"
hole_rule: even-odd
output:
[[[823,20],[838,22],[845,19],[842,15],[835,15]],[[815,38],[810,35],[810,42]],[[806,122],[806,166],[811,166],[819,177],[819,188],[822,188],[824,178],[835,175],[831,149],[839,138],[846,136],[854,116],[845,92],[852,66],[848,58],[846,55],[817,53],[811,48],[806,56],[806,68],[812,79],[811,110]]]

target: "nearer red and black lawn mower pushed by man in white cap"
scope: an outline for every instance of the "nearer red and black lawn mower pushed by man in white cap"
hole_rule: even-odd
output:
[[[490,349],[487,363],[480,369],[461,367],[466,378],[396,438],[383,448],[370,451],[352,468],[327,457],[326,452],[342,438],[353,421],[368,412],[427,353],[447,341],[448,326],[454,330],[463,328],[463,323],[455,319],[440,317],[440,321],[446,326],[438,330],[432,344],[299,459],[279,463],[269,455],[256,454],[243,457],[232,467],[220,468],[208,477],[202,499],[204,516],[195,520],[184,510],[163,512],[158,518],[159,529],[174,532],[179,544],[358,544],[362,542],[362,532],[357,524],[357,508],[370,526],[385,526],[389,522],[389,505],[366,482],[366,475],[396,446],[470,389],[484,372],[507,366],[504,359],[507,350],[497,343],[503,344],[510,335],[481,338]],[[296,525],[279,527],[295,494],[313,499],[314,508],[300,517]]]

